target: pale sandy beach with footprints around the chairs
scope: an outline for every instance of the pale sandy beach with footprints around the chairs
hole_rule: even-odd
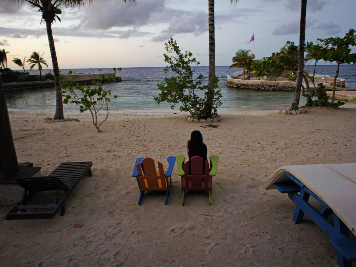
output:
[[[184,114],[115,114],[101,133],[88,114],[45,123],[53,114],[10,112],[19,162],[46,175],[61,162],[92,161],[93,176],[54,219],[4,220],[22,188],[0,185],[0,266],[338,266],[329,237],[308,217],[295,224],[294,203],[263,187],[283,165],[355,162],[356,108],[307,110],[221,114],[217,128]],[[207,193],[189,192],[182,206],[176,167],[168,205],[152,192],[138,206],[135,159],[167,169],[168,156],[186,155],[193,130],[220,157],[211,206]]]

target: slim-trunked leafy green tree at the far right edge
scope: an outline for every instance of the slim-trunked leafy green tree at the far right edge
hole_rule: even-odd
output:
[[[318,39],[318,43],[323,47],[323,60],[329,62],[336,62],[337,69],[333,82],[333,96],[331,97],[331,104],[334,104],[336,79],[339,75],[340,64],[356,63],[356,53],[351,53],[350,46],[356,46],[355,30],[350,29],[349,32],[342,38],[329,37],[325,39]]]

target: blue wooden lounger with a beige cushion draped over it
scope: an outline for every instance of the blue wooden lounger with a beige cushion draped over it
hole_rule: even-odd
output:
[[[356,260],[356,163],[282,166],[265,188],[288,194],[296,204],[294,222],[302,223],[307,215],[330,237],[339,267],[352,266]],[[310,197],[324,208],[317,210],[308,202]]]

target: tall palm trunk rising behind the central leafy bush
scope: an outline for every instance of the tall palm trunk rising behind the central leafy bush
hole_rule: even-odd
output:
[[[215,21],[214,21],[214,0],[208,0],[209,5],[209,84],[208,84],[208,94],[209,97],[206,103],[206,117],[211,118],[211,108],[214,99],[214,84],[213,78],[215,76]]]

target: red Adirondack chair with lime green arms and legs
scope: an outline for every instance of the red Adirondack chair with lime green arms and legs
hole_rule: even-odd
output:
[[[218,167],[218,156],[210,156],[209,163],[199,156],[194,156],[184,163],[185,157],[177,156],[178,175],[182,177],[182,205],[184,206],[184,191],[198,190],[209,192],[211,205],[211,183]]]

